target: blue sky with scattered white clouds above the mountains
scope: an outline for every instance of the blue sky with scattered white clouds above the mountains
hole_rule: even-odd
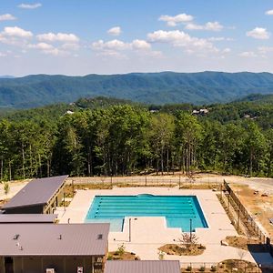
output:
[[[273,73],[272,0],[0,1],[0,75]]]

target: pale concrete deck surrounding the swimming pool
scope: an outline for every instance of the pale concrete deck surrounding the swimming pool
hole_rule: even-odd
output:
[[[60,223],[84,223],[86,214],[95,196],[134,196],[151,194],[158,196],[197,196],[200,207],[207,220],[207,228],[196,228],[198,243],[206,246],[199,256],[170,256],[165,259],[179,259],[183,263],[217,263],[228,258],[240,258],[258,262],[257,257],[268,264],[272,258],[268,253],[255,258],[245,250],[221,246],[220,241],[227,236],[237,236],[224,208],[212,190],[178,189],[177,187],[114,187],[103,190],[78,190],[66,211],[59,213]],[[129,238],[129,218],[131,218],[131,236]],[[123,232],[109,233],[109,251],[115,251],[124,244],[126,251],[134,252],[141,259],[158,259],[158,249],[165,244],[176,243],[181,238],[180,228],[167,227],[165,217],[126,217]]]

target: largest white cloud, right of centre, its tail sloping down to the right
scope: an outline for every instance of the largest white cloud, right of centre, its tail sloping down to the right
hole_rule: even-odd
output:
[[[174,46],[182,46],[187,48],[187,52],[194,52],[196,50],[208,50],[217,52],[217,48],[207,41],[197,37],[192,37],[187,33],[179,30],[164,31],[157,30],[147,35],[148,41],[151,43],[167,43]],[[189,51],[188,51],[189,50]]]

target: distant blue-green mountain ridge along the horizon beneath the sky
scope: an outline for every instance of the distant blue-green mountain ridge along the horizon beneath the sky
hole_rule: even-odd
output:
[[[71,103],[80,97],[112,96],[147,104],[223,103],[249,94],[272,94],[269,73],[143,73],[0,78],[0,107]]]

